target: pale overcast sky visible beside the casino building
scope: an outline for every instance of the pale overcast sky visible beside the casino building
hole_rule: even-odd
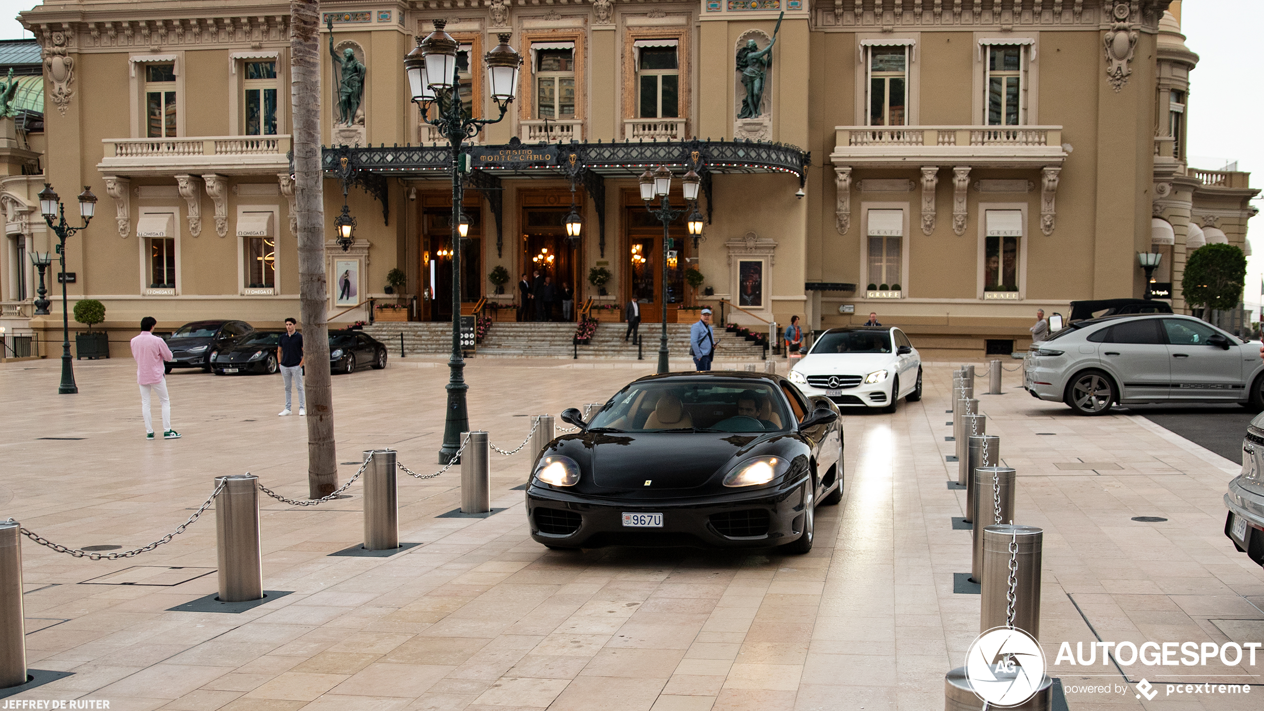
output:
[[[14,18],[38,3],[0,0],[0,39],[30,37]],[[1232,18],[1226,23],[1225,18]],[[1256,173],[1251,186],[1264,183],[1264,141],[1258,140],[1259,119],[1264,116],[1264,92],[1251,88],[1254,77],[1264,71],[1264,43],[1258,34],[1264,27],[1261,0],[1186,0],[1182,4],[1182,32],[1186,44],[1198,54],[1198,67],[1189,77],[1188,141],[1189,165],[1220,169],[1237,162],[1239,170]],[[1255,201],[1264,208],[1264,198]],[[1264,217],[1251,220],[1260,230]],[[1251,240],[1253,242],[1256,240]],[[1260,242],[1264,250],[1264,241]],[[1251,258],[1245,301],[1256,309],[1264,251]]]

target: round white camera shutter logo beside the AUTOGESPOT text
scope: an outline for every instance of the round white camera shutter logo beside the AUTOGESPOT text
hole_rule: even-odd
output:
[[[990,707],[1018,706],[1035,696],[1044,669],[1040,643],[1016,628],[992,628],[966,653],[966,678]]]

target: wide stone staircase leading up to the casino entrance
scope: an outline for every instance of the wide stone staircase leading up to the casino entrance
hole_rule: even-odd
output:
[[[686,357],[689,354],[689,323],[667,325],[667,347],[672,357]],[[446,322],[379,322],[365,326],[364,332],[387,345],[392,356],[399,355],[399,335],[403,333],[403,347],[407,355],[442,355],[453,347],[453,326]],[[599,323],[593,333],[592,344],[579,346],[579,359],[619,359],[636,360],[636,344],[623,341],[626,323]],[[641,323],[642,355],[646,360],[659,357],[659,323]],[[517,323],[497,322],[488,330],[479,344],[478,357],[565,357],[575,355],[571,338],[575,335],[574,323]],[[763,349],[755,344],[715,330],[717,355],[722,360],[763,359]]]

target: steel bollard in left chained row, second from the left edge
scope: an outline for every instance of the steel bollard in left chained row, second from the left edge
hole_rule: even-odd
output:
[[[234,474],[215,500],[215,541],[220,566],[220,602],[263,599],[263,554],[259,549],[259,477]]]

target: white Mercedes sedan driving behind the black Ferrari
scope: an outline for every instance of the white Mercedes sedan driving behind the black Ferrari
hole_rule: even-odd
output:
[[[790,369],[790,381],[841,408],[895,412],[900,398],[921,399],[921,356],[899,328],[830,328]]]

